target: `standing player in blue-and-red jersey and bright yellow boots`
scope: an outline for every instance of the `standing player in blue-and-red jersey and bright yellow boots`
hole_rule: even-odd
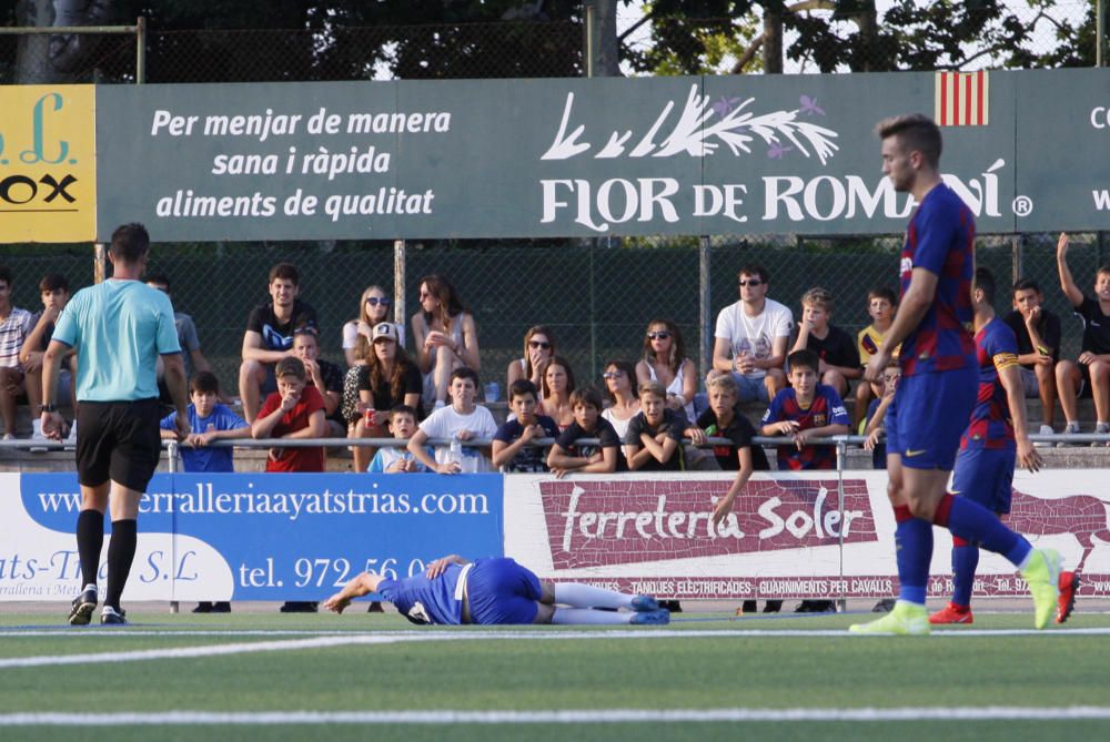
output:
[[[947,491],[978,388],[975,342],[967,329],[973,314],[975,217],[940,177],[940,129],[932,120],[897,116],[876,130],[884,174],[917,203],[901,253],[898,314],[864,374],[878,382],[891,348],[901,344],[901,383],[887,410],[887,492],[897,522],[899,589],[890,613],[851,631],[929,633],[925,594],[934,525],[1017,565],[1033,597],[1033,626],[1042,629],[1057,612],[1060,555],[1032,549],[993,512]]]

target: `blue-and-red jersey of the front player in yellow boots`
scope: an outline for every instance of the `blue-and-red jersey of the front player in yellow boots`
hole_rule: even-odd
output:
[[[975,275],[975,217],[956,193],[938,184],[910,217],[901,254],[901,295],[914,268],[937,275],[937,294],[921,322],[902,340],[902,375],[931,374],[972,364],[971,279]]]

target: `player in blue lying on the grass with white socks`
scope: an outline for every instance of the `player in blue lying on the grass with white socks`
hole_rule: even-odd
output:
[[[427,570],[392,580],[363,572],[324,608],[342,613],[354,598],[380,593],[413,623],[633,623],[663,624],[670,613],[650,596],[628,596],[577,582],[543,581],[514,560],[436,559]],[[556,606],[558,603],[558,606]],[[607,610],[598,610],[607,609]],[[624,609],[624,610],[620,610]]]

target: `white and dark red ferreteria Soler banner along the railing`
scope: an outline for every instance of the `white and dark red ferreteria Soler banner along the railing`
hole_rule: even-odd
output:
[[[730,475],[653,474],[505,484],[505,553],[541,577],[674,598],[885,597],[898,587],[882,471],[753,477],[733,514],[712,514]],[[1082,572],[1080,594],[1110,594],[1106,471],[1015,477],[1007,521]],[[936,529],[929,594],[951,593],[951,538]],[[983,552],[980,596],[1021,596],[1003,558]]]

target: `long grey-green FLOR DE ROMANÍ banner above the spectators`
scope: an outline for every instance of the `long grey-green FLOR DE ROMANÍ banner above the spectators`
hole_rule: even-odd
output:
[[[104,85],[94,194],[23,172],[89,146],[59,129],[61,89],[19,90],[0,90],[0,209],[81,184],[99,240],[137,220],[164,242],[898,233],[914,204],[874,129],[907,112],[942,126],[980,232],[1110,228],[1101,69]],[[3,222],[0,242],[61,238]]]

